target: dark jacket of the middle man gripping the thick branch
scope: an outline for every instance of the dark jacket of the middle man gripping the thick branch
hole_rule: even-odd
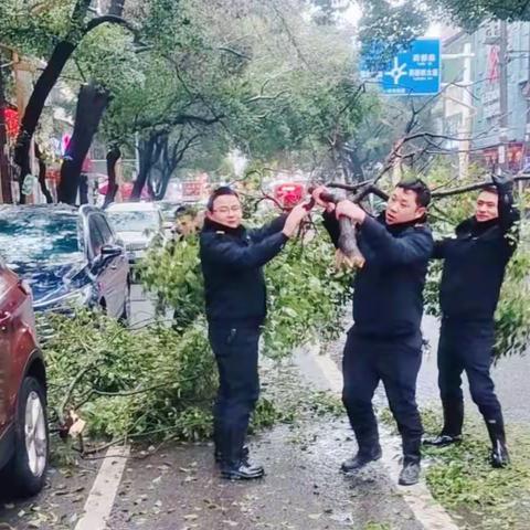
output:
[[[392,339],[417,336],[423,315],[423,287],[433,252],[433,236],[422,222],[388,225],[384,216],[367,215],[358,230],[365,263],[353,279],[353,330]],[[325,225],[338,246],[339,224],[325,214]]]

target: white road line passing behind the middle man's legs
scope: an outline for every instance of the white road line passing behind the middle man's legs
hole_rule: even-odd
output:
[[[328,390],[337,395],[342,393],[342,373],[329,356],[319,353],[318,346],[310,344],[297,349],[294,362],[301,374],[318,390]],[[389,471],[395,490],[403,497],[417,521],[425,530],[458,530],[458,526],[447,511],[433,498],[424,479],[412,487],[398,486],[401,442],[381,423],[379,430],[383,447],[381,462]]]

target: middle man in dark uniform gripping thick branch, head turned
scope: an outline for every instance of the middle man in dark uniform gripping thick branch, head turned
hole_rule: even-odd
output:
[[[320,190],[314,198],[322,204]],[[415,392],[422,361],[423,287],[433,251],[425,224],[430,199],[427,187],[415,180],[398,184],[378,219],[350,201],[339,202],[336,215],[325,213],[336,246],[337,218],[346,215],[358,224],[358,245],[365,259],[353,280],[354,324],[342,360],[342,401],[359,451],[342,470],[352,473],[381,458],[372,398],[382,380],[403,441],[400,484],[404,486],[420,477],[423,430]]]

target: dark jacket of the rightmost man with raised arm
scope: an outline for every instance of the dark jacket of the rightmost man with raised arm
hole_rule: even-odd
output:
[[[445,259],[439,286],[442,314],[459,320],[491,320],[506,265],[517,247],[519,220],[511,193],[499,190],[499,218],[479,223],[467,219],[456,237],[436,242],[433,257]]]

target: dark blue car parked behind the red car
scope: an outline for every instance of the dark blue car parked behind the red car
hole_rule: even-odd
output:
[[[84,205],[0,208],[0,248],[28,282],[35,311],[98,307],[129,316],[129,266],[105,214]]]

